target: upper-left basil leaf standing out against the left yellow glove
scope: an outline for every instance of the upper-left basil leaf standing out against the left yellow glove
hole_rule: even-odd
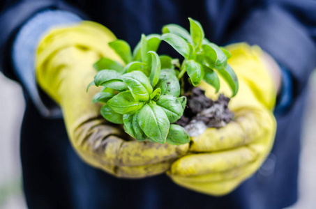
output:
[[[123,59],[124,63],[128,64],[132,61],[132,52],[128,42],[125,40],[114,40],[109,42],[109,45]]]

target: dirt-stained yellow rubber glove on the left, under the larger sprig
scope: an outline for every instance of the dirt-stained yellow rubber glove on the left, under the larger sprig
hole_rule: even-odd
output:
[[[123,178],[163,173],[186,153],[188,145],[131,141],[121,125],[100,116],[99,104],[92,104],[100,88],[92,86],[86,93],[96,75],[93,63],[100,57],[121,61],[108,46],[115,39],[110,30],[94,22],[50,31],[38,47],[38,84],[61,106],[71,144],[82,160]]]

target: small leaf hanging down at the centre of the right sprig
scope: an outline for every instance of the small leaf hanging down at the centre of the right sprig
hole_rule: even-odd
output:
[[[205,74],[202,65],[194,60],[186,61],[186,72],[188,72],[193,86],[199,85]]]

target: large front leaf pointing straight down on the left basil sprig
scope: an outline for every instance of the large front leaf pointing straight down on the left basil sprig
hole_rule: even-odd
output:
[[[156,104],[145,104],[138,113],[138,124],[149,138],[165,144],[170,123],[165,111]]]

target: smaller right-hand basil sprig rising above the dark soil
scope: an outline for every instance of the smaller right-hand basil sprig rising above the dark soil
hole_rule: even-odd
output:
[[[220,80],[217,74],[219,74],[232,89],[232,96],[236,95],[239,88],[238,79],[234,70],[227,64],[227,59],[232,55],[225,48],[218,47],[204,37],[200,22],[192,18],[189,20],[190,33],[179,25],[168,24],[163,26],[163,36],[161,36],[161,40],[170,44],[184,58],[178,79],[187,72],[193,86],[198,86],[204,79],[218,92]]]

